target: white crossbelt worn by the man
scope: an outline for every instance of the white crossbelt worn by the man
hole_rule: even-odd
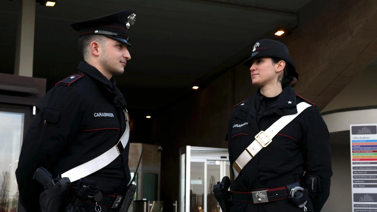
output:
[[[124,116],[126,117],[126,130],[124,131],[118,143],[102,155],[90,161],[87,161],[86,163],[81,164],[80,166],[74,167],[73,169],[64,172],[63,174],[61,174],[62,178],[68,177],[71,182],[79,180],[107,166],[113,160],[115,160],[115,158],[122,154],[124,148],[126,148],[127,146],[130,137],[130,124],[128,112],[126,109],[124,109],[123,112]]]

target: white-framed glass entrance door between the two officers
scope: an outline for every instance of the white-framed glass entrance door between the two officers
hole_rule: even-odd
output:
[[[221,212],[213,185],[229,176],[228,149],[182,147],[179,171],[179,212]]]

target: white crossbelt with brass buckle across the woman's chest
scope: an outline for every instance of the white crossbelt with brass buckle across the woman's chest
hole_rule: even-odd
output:
[[[273,123],[267,130],[259,132],[255,136],[255,140],[238,156],[237,160],[233,163],[234,180],[238,177],[239,173],[246,166],[246,164],[255,157],[255,155],[261,151],[264,147],[268,146],[272,142],[272,138],[281,131],[287,124],[289,124],[294,118],[296,118],[302,111],[308,107],[313,106],[306,102],[297,104],[297,113],[291,115],[285,115],[275,123]]]

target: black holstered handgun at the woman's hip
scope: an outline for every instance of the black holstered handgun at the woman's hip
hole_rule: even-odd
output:
[[[230,179],[227,176],[223,177],[221,182],[217,182],[216,185],[213,185],[213,194],[215,194],[215,198],[223,212],[230,212],[231,195],[228,191],[229,187]]]

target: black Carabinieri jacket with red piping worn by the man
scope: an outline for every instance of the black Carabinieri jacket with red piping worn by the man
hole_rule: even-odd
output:
[[[43,187],[32,180],[38,167],[55,177],[86,163],[114,146],[126,128],[123,94],[86,62],[78,74],[57,83],[38,103],[38,115],[23,141],[16,177],[20,201],[27,211],[39,211]],[[130,180],[129,143],[123,154],[87,176],[101,192],[123,193]],[[122,186],[123,185],[123,186]]]

